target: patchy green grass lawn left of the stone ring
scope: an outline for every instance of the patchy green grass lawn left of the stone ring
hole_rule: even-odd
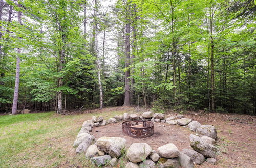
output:
[[[72,147],[83,121],[97,114],[110,118],[129,110],[133,108],[106,108],[79,115],[0,116],[0,167],[92,167]]]

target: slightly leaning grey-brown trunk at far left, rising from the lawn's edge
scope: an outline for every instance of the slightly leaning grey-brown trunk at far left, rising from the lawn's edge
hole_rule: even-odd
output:
[[[20,4],[18,4],[20,7]],[[22,12],[18,11],[18,23],[22,24]],[[19,39],[21,39],[19,37]],[[13,104],[12,104],[12,114],[17,114],[17,105],[18,105],[18,89],[19,89],[19,72],[20,72],[20,53],[22,52],[21,48],[17,48],[17,60],[16,60],[16,77],[15,77],[15,88],[14,88],[14,96],[13,96]]]

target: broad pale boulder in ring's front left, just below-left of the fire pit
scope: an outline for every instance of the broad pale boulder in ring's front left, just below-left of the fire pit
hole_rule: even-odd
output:
[[[96,145],[98,149],[108,153],[112,157],[121,155],[121,150],[126,146],[126,139],[121,137],[100,137]]]

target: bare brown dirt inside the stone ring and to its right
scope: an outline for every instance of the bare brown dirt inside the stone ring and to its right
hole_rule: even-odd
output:
[[[168,113],[166,116],[174,116]],[[256,131],[255,116],[238,114],[185,114],[185,118],[192,118],[202,125],[210,124],[216,127],[218,132],[217,140],[217,165],[204,162],[196,167],[256,167]],[[189,145],[188,128],[169,125],[167,123],[154,123],[154,135],[147,138],[136,139],[122,133],[122,122],[93,128],[92,135],[95,138],[101,136],[118,136],[127,140],[130,146],[135,142],[146,142],[154,150],[158,147],[174,143],[181,151],[184,148],[191,148]]]

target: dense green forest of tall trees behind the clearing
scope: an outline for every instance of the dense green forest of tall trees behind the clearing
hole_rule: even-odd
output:
[[[0,113],[256,114],[253,0],[0,0]]]

